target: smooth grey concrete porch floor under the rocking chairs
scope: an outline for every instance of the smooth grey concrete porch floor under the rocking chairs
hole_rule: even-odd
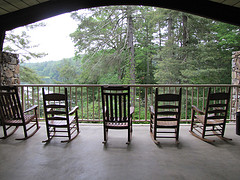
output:
[[[235,125],[227,125],[225,142],[215,137],[209,144],[193,137],[189,125],[180,127],[180,144],[160,139],[155,145],[149,125],[134,125],[130,145],[127,131],[110,130],[102,144],[102,125],[81,124],[81,133],[72,142],[55,138],[48,145],[45,125],[32,138],[22,137],[21,128],[12,137],[0,140],[0,179],[10,180],[159,180],[159,179],[239,179],[240,137]]]

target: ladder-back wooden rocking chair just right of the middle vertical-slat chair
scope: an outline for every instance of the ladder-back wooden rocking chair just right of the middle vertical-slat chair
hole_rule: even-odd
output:
[[[179,94],[158,94],[156,88],[155,106],[150,106],[150,133],[155,144],[159,144],[157,138],[175,138],[178,143],[181,98],[182,88]]]

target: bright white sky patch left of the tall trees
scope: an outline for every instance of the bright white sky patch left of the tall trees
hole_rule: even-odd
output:
[[[69,37],[77,28],[77,22],[70,17],[71,13],[65,13],[38,22],[44,22],[45,27],[38,27],[28,31],[32,44],[39,46],[36,52],[44,52],[48,55],[43,58],[31,59],[28,62],[56,61],[63,58],[74,57],[74,44]],[[26,30],[19,27],[14,31]]]

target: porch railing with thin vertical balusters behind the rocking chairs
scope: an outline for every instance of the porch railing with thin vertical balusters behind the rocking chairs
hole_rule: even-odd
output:
[[[38,105],[38,116],[43,119],[43,102],[42,102],[42,88],[48,92],[63,92],[64,88],[68,89],[68,99],[70,108],[79,106],[79,119],[82,122],[100,122],[102,121],[102,107],[101,107],[101,91],[102,85],[94,84],[28,84],[18,85],[22,99],[23,107],[28,108],[32,105]],[[128,85],[131,87],[132,105],[135,107],[134,122],[148,122],[149,121],[149,106],[154,103],[155,88],[158,87],[160,92],[175,92],[180,87],[183,90],[182,96],[182,113],[181,121],[186,122],[191,119],[191,105],[197,105],[203,109],[206,105],[207,90],[209,87],[213,89],[226,89],[231,87],[231,101],[229,108],[229,117],[231,121],[235,120],[236,111],[238,110],[238,94],[239,85],[176,85],[176,84],[147,84],[147,85]]]

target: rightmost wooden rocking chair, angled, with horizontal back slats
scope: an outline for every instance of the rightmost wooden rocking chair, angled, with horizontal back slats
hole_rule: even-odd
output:
[[[206,136],[217,136],[223,140],[231,140],[224,137],[230,90],[229,87],[228,92],[212,93],[211,88],[209,88],[205,112],[192,105],[190,129],[192,135],[210,143],[214,140],[207,139]]]

